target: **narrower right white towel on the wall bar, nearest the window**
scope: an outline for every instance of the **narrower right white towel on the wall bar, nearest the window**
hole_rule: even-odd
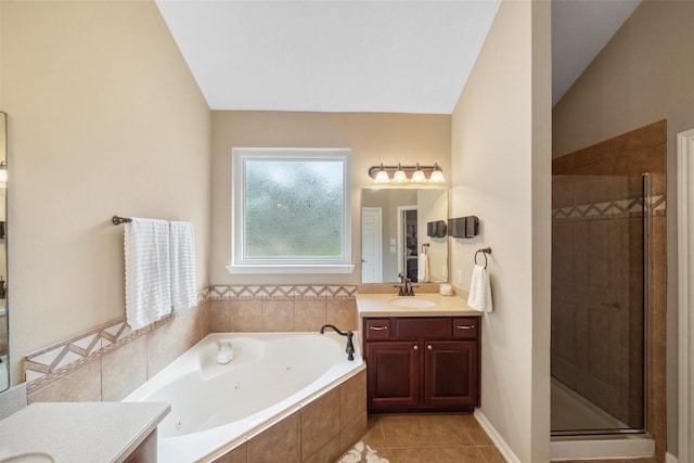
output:
[[[171,222],[171,304],[174,310],[197,305],[195,230],[191,222]]]

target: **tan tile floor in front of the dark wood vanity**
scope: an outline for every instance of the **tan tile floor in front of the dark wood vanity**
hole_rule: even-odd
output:
[[[369,416],[361,440],[389,463],[505,463],[472,414]]]

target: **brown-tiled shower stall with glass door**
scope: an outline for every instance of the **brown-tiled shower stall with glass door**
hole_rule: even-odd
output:
[[[654,243],[665,223],[665,121],[644,129],[663,140],[634,131],[553,160],[553,439],[653,435],[651,293],[655,253],[665,256],[665,240]]]

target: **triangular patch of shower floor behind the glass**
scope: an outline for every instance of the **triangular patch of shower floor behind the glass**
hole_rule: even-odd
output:
[[[629,428],[627,424],[555,378],[551,383],[550,420],[552,433]]]

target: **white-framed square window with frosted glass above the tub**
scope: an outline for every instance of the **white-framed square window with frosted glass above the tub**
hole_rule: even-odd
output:
[[[346,149],[232,151],[230,273],[351,273]]]

